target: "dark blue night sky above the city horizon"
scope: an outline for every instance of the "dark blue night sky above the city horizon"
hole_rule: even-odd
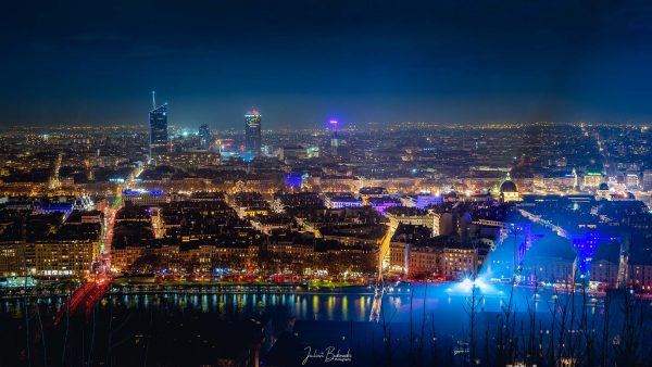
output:
[[[11,1],[0,124],[652,119],[652,3]]]

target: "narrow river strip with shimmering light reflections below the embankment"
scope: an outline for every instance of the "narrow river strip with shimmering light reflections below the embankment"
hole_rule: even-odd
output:
[[[398,289],[397,289],[398,290]],[[386,292],[383,299],[383,312],[392,316],[396,321],[408,321],[410,309],[414,313],[435,314],[444,319],[455,319],[461,316],[463,306],[467,303],[468,294],[455,293],[450,284],[414,286],[414,290],[403,286],[401,292]],[[412,300],[411,300],[412,298]],[[425,298],[425,299],[424,299]],[[63,307],[63,298],[43,298],[40,300],[3,300],[0,312],[20,318],[25,315],[25,307],[41,307],[41,313],[57,313]],[[109,294],[99,304],[100,311],[115,307],[123,311],[180,309],[199,313],[216,313],[221,318],[247,317],[262,315],[267,311],[281,307],[299,320],[335,320],[335,321],[366,321],[371,314],[373,296],[365,290],[340,291],[338,293],[213,293],[191,294],[175,292],[140,293],[140,294]],[[528,303],[529,301],[529,303]],[[532,302],[534,301],[534,302]],[[601,300],[591,300],[588,311],[601,313]],[[27,302],[27,303],[26,303]],[[500,312],[507,306],[509,293],[494,292],[482,294],[484,312]],[[547,313],[550,302],[554,302],[551,292],[540,291],[535,295],[531,290],[518,289],[514,295],[515,309],[526,312],[528,307],[539,313]]]

